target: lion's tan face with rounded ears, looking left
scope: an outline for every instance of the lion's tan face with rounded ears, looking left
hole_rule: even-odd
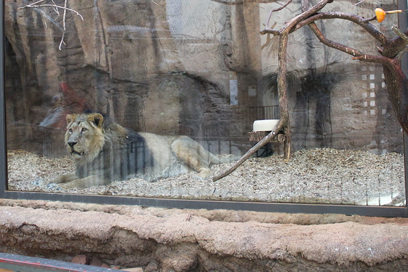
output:
[[[105,143],[102,123],[104,117],[99,113],[67,114],[65,144],[68,153],[77,160],[93,160]]]

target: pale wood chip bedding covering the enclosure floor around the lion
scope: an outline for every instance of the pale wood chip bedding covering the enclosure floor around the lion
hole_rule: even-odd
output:
[[[218,172],[232,164],[213,165]],[[8,152],[8,188],[20,191],[132,195],[177,199],[301,202],[358,205],[403,205],[403,156],[365,151],[304,149],[291,155],[251,158],[216,182],[195,172],[148,182],[115,181],[86,189],[47,186],[74,171],[68,158],[52,159],[21,150]]]

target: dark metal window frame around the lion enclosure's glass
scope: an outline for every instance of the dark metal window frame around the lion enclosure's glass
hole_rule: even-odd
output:
[[[407,2],[398,1],[399,9],[406,10]],[[4,2],[0,1],[0,198],[25,199],[25,200],[48,200],[64,202],[83,202],[111,205],[137,205],[151,207],[166,207],[180,209],[229,209],[249,210],[260,212],[284,212],[284,213],[340,213],[347,215],[384,216],[384,217],[408,217],[408,208],[384,207],[384,206],[354,206],[354,205],[331,205],[331,204],[300,204],[300,203],[267,203],[267,202],[237,202],[237,201],[202,201],[182,199],[159,199],[147,197],[106,196],[106,195],[80,195],[69,193],[45,193],[30,191],[7,190],[7,146],[6,146],[6,119],[5,119],[5,89],[4,89]],[[400,29],[408,27],[408,16],[400,13]],[[408,74],[408,56],[402,58],[402,67]],[[404,167],[405,167],[405,203],[408,204],[408,136],[403,135],[404,144]],[[406,205],[405,204],[405,205]]]

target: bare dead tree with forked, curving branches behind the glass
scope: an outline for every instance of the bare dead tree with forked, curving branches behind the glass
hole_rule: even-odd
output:
[[[401,128],[405,133],[408,134],[408,80],[404,75],[400,58],[408,51],[408,29],[403,33],[399,32],[397,28],[394,31],[398,36],[395,38],[389,38],[384,33],[380,32],[370,21],[375,20],[376,17],[365,19],[363,17],[347,14],[343,12],[318,12],[327,4],[333,2],[333,0],[321,0],[316,5],[309,7],[309,1],[302,1],[301,14],[296,15],[293,19],[287,21],[284,26],[279,29],[270,29],[269,20],[273,12],[284,9],[288,6],[292,0],[288,0],[283,6],[278,9],[274,9],[270,12],[269,18],[265,24],[265,29],[261,32],[264,34],[273,34],[279,36],[279,52],[278,52],[278,96],[279,96],[279,107],[281,114],[281,121],[279,121],[277,127],[271,131],[265,138],[254,145],[239,161],[237,161],[230,169],[222,172],[221,174],[213,177],[213,181],[225,177],[230,174],[239,165],[241,165],[246,159],[248,159],[253,153],[257,152],[263,145],[272,140],[277,132],[282,131],[285,134],[285,160],[289,160],[290,157],[290,133],[289,133],[289,113],[287,106],[287,82],[286,82],[286,50],[288,35],[303,26],[308,25],[316,37],[323,44],[335,48],[336,50],[342,51],[346,54],[352,56],[353,60],[360,60],[364,62],[374,62],[382,64],[384,70],[385,82],[387,85],[387,91],[389,98],[399,121]],[[378,47],[378,52],[380,56],[367,55],[363,52],[346,46],[344,44],[328,40],[320,29],[316,26],[316,20],[322,19],[343,19],[349,20],[358,24],[367,33],[369,33],[377,42],[381,44],[381,48]]]

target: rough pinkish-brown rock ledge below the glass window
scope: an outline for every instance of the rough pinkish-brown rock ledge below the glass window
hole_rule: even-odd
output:
[[[406,271],[408,219],[0,200],[0,251],[145,271]]]

